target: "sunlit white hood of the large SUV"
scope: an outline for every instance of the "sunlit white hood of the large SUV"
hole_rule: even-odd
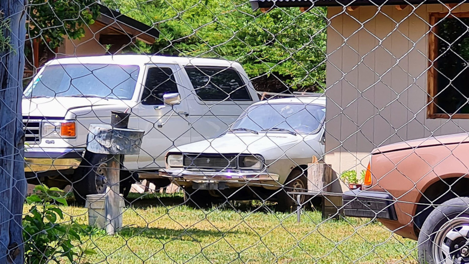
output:
[[[23,98],[23,116],[65,117],[67,112],[83,108],[116,104],[116,99],[93,97],[38,97]],[[118,104],[122,104],[121,102]]]

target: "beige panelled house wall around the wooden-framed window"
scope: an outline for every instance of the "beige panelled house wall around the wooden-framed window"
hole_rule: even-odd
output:
[[[364,169],[378,146],[469,131],[467,119],[427,119],[429,14],[446,6],[327,10],[325,160],[336,172]]]

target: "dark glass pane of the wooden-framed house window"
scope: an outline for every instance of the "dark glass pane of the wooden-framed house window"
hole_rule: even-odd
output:
[[[436,113],[469,113],[469,18],[447,17],[436,26]]]

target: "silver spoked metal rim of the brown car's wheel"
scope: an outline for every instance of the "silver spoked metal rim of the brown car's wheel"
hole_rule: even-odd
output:
[[[436,233],[433,258],[441,264],[469,264],[469,216],[445,223]]]

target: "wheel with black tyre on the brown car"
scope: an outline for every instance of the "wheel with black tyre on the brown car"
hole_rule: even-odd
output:
[[[450,199],[434,209],[419,234],[420,263],[469,263],[469,197]]]

